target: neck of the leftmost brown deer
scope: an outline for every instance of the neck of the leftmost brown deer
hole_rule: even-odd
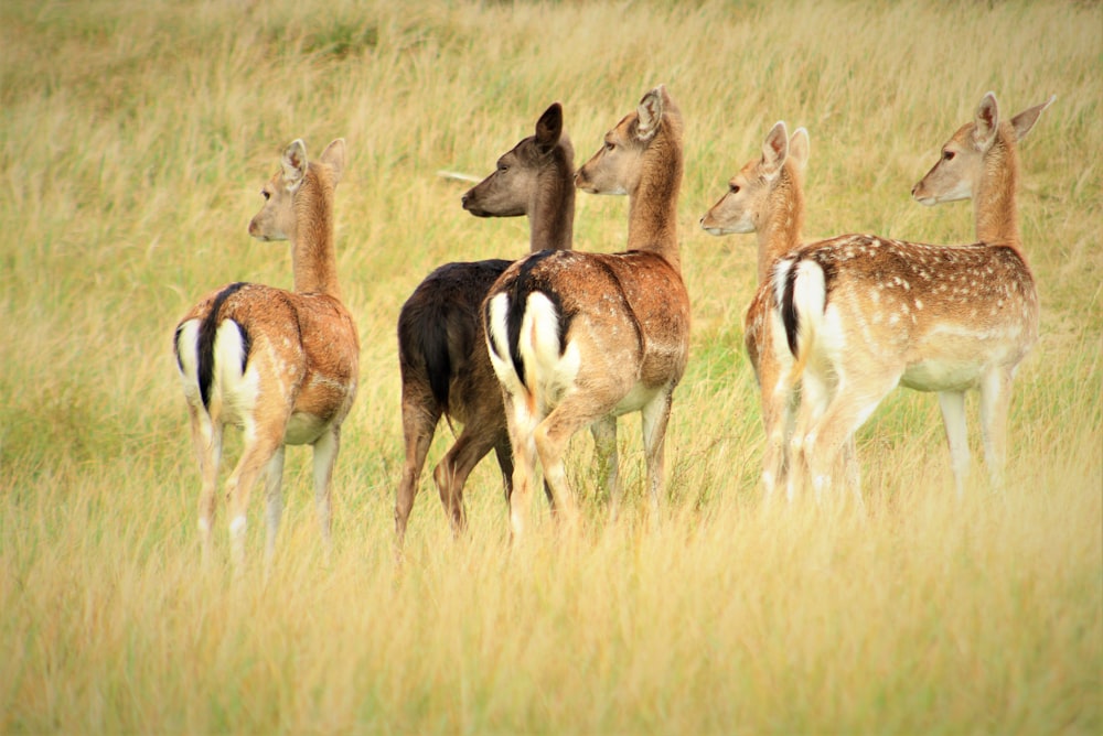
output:
[[[311,181],[302,186],[295,202],[296,229],[291,238],[295,291],[329,294],[340,300],[333,249],[333,188]]]

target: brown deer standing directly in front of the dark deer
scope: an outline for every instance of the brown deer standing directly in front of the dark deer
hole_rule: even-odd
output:
[[[568,441],[583,426],[633,411],[642,416],[657,515],[666,427],[689,348],[677,240],[682,131],[682,113],[660,85],[575,174],[575,185],[589,194],[628,195],[627,251],[529,255],[506,269],[483,303],[513,448],[513,540],[524,537],[537,456],[557,518],[570,526],[576,510],[563,463]],[[619,497],[615,489],[612,518]]]

